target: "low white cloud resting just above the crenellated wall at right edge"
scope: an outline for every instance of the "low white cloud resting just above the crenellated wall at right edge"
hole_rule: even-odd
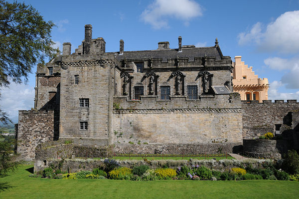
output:
[[[297,99],[297,101],[299,101],[299,91],[297,91],[295,93],[281,93],[278,91],[278,89],[283,86],[284,86],[284,84],[281,81],[273,81],[272,83],[270,83],[270,88],[268,91],[268,99],[271,99],[271,100]]]

